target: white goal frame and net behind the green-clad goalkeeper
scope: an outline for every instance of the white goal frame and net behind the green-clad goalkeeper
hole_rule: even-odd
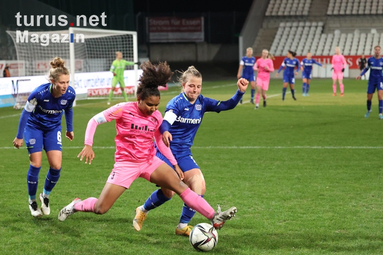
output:
[[[64,59],[70,71],[71,86],[77,92],[77,100],[106,96],[113,78],[109,69],[115,52],[122,52],[123,59],[127,61],[138,62],[137,33],[133,31],[70,27],[62,31],[7,33],[15,44],[17,60],[25,63],[26,76],[46,75],[51,67],[51,59]],[[124,77],[126,92],[134,94],[138,66],[126,66]],[[89,93],[88,90],[93,91]]]

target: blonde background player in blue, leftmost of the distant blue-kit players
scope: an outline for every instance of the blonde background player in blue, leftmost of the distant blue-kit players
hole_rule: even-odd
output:
[[[254,64],[255,58],[253,57],[253,48],[248,47],[246,49],[246,56],[241,59],[240,67],[238,67],[237,78],[244,78],[250,82],[251,85],[251,96],[250,103],[254,105],[254,94],[255,94],[255,75],[254,75]],[[242,104],[242,97],[240,100]]]

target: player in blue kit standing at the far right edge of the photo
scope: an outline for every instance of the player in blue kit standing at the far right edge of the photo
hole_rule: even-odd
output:
[[[361,77],[370,70],[370,78],[368,79],[367,86],[367,113],[365,115],[366,118],[370,116],[371,112],[371,100],[372,96],[375,93],[375,90],[378,91],[378,99],[379,99],[379,119],[383,119],[383,58],[380,56],[381,48],[379,45],[374,47],[374,56],[370,57],[367,60],[367,64],[365,69],[362,71],[361,75],[356,77],[356,80],[360,80]]]

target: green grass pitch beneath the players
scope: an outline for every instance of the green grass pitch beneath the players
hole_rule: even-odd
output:
[[[202,94],[225,100],[235,83],[204,82]],[[204,116],[192,151],[206,179],[205,198],[214,208],[219,203],[238,210],[210,254],[383,253],[383,120],[376,95],[370,118],[364,118],[367,81],[344,84],[345,96],[333,97],[330,80],[314,79],[310,96],[302,97],[297,81],[297,101],[291,94],[282,101],[282,83],[272,80],[266,108],[247,103]],[[177,93],[162,93],[161,113]],[[249,98],[250,86],[244,101]],[[40,218],[28,209],[28,152],[25,145],[12,148],[20,112],[0,109],[1,254],[196,254],[188,238],[174,234],[182,208],[178,196],[134,231],[134,209],[156,189],[143,179],[104,215],[76,213],[58,221],[59,210],[75,197],[98,197],[113,167],[114,122],[98,126],[90,166],[77,158],[88,120],[106,108],[106,100],[78,102],[75,139],[63,138],[51,215]],[[44,155],[38,192],[48,169]],[[201,222],[207,220],[197,213],[191,224]]]

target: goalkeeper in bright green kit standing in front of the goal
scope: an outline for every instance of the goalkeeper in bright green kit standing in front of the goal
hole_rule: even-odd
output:
[[[110,67],[110,71],[113,72],[113,80],[112,80],[112,89],[109,92],[109,100],[108,105],[110,105],[110,101],[112,100],[113,91],[116,88],[117,83],[119,83],[119,87],[123,93],[125,101],[128,101],[128,95],[126,94],[125,82],[124,82],[124,70],[126,65],[134,65],[138,63],[126,61],[123,59],[123,54],[121,52],[116,52],[116,59],[113,61],[112,66]]]

